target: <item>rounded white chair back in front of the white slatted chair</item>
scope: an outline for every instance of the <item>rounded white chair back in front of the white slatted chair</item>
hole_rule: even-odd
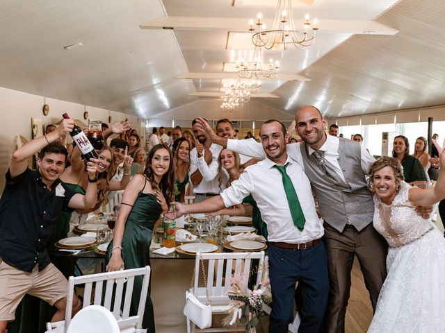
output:
[[[120,333],[118,321],[113,314],[100,305],[90,305],[72,318],[67,333]]]

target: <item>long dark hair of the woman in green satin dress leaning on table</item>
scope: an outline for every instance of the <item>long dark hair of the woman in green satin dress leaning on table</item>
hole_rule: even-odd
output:
[[[154,181],[152,160],[154,157],[154,153],[156,153],[156,151],[159,151],[159,149],[165,149],[166,151],[168,151],[168,154],[170,155],[170,164],[168,165],[168,171],[162,176],[161,182],[159,182],[158,186]],[[170,201],[173,199],[173,195],[175,194],[175,190],[173,188],[175,186],[175,171],[173,170],[172,151],[170,151],[170,148],[168,148],[168,146],[166,146],[165,144],[156,144],[155,146],[153,146],[152,149],[150,149],[147,157],[147,162],[145,163],[144,176],[146,176],[149,180],[150,185],[152,185],[152,189],[161,189],[165,201],[167,201],[167,203],[170,203]]]

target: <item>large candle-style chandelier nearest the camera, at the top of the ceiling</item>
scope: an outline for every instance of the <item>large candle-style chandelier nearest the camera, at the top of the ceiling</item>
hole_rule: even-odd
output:
[[[255,32],[254,21],[251,19],[249,31],[252,32],[252,43],[255,46],[272,49],[274,46],[293,44],[298,49],[305,49],[315,42],[318,20],[314,19],[314,25],[309,28],[309,15],[305,15],[305,22],[301,29],[296,28],[293,21],[292,1],[278,0],[275,10],[275,19],[271,29],[261,22],[261,13],[257,15],[257,31]]]

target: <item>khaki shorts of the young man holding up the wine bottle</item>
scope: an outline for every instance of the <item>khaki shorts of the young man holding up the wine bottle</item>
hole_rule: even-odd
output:
[[[26,293],[54,305],[67,296],[67,288],[67,279],[53,264],[40,272],[35,266],[32,273],[28,273],[0,258],[0,321],[15,319],[15,309]]]

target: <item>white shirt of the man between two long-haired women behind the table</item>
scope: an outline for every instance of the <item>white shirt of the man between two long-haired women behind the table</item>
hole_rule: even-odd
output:
[[[190,171],[188,174],[191,176],[196,170],[199,169],[202,180],[201,182],[193,187],[193,193],[195,194],[218,194],[220,193],[220,184],[218,181],[218,157],[220,151],[223,149],[222,146],[218,144],[211,144],[209,150],[211,151],[212,157],[209,164],[204,160],[204,155],[202,157],[197,157],[196,148],[190,153]],[[223,183],[223,187],[225,183]]]

